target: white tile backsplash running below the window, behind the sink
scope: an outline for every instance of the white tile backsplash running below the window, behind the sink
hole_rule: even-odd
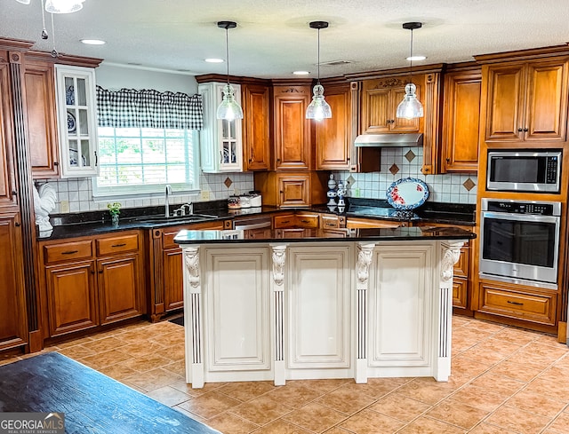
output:
[[[58,196],[52,214],[107,209],[109,201],[118,201],[124,208],[164,205],[164,194],[131,199],[108,197],[93,199],[91,178],[58,179],[50,180],[48,183],[53,186]],[[170,203],[175,205],[189,201],[215,201],[227,199],[231,194],[247,193],[253,190],[252,173],[202,173],[200,175],[200,188],[201,193],[173,193],[170,197]]]

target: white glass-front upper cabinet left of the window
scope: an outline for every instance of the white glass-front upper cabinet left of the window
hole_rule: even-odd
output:
[[[61,178],[97,176],[95,70],[55,65]]]

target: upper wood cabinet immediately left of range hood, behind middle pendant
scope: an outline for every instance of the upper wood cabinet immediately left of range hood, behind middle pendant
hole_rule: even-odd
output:
[[[332,117],[313,121],[316,170],[349,170],[351,159],[351,98],[349,83],[325,86]]]

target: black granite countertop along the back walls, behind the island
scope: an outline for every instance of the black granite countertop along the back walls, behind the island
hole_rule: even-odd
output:
[[[278,209],[271,206],[249,209],[228,209],[227,201],[196,202],[194,216],[164,217],[164,206],[140,209],[121,209],[120,223],[114,226],[110,222],[108,211],[89,211],[54,215],[50,218],[53,225],[52,233],[40,233],[39,241],[56,240],[80,236],[114,233],[136,229],[154,229],[160,227],[190,225],[212,222],[216,220],[233,219],[273,214],[276,212],[312,211],[345,217],[365,217],[413,223],[437,223],[445,225],[475,225],[475,206],[453,203],[426,202],[421,209],[412,212],[394,213],[387,201],[373,199],[348,198],[348,206],[343,212],[338,209],[330,210],[325,205],[311,208]],[[377,210],[388,211],[389,215],[380,215]],[[385,214],[385,213],[383,213]]]

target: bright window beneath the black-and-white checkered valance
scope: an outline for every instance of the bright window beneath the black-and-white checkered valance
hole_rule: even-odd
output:
[[[199,188],[196,130],[99,127],[100,175],[94,196]]]

